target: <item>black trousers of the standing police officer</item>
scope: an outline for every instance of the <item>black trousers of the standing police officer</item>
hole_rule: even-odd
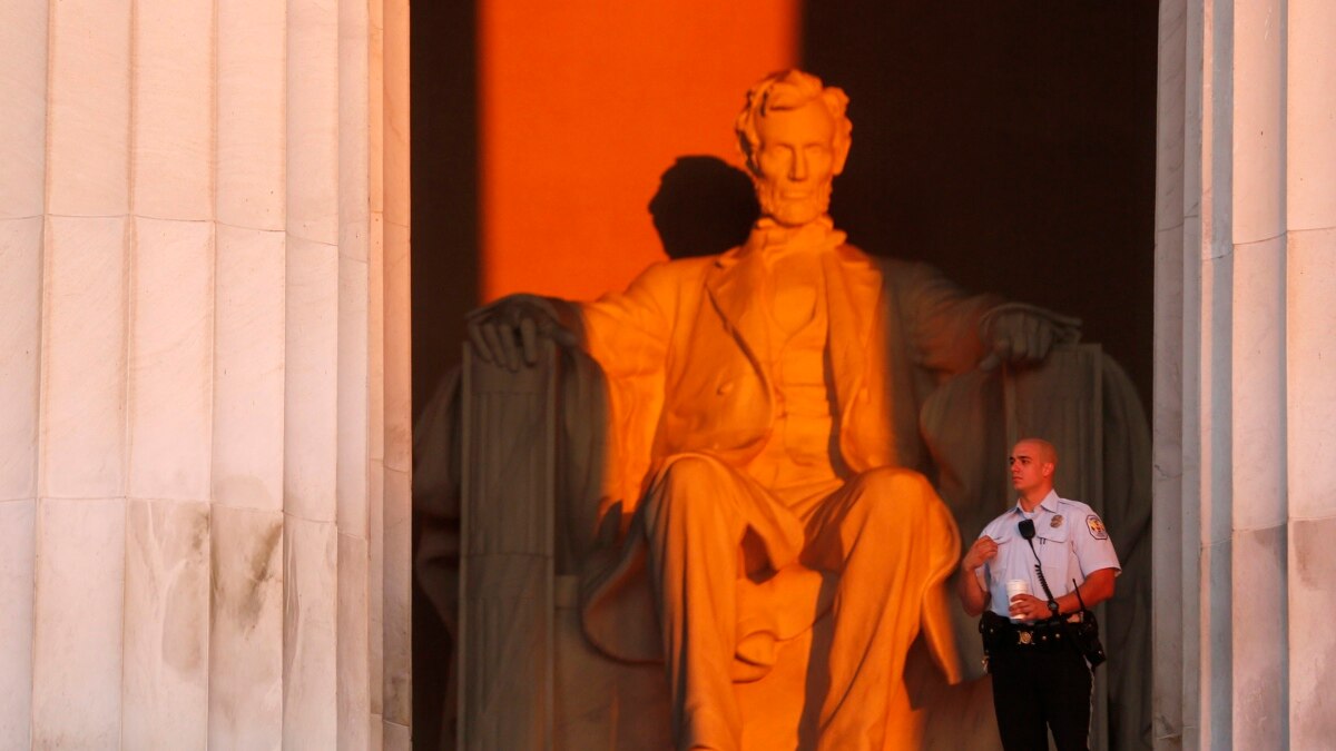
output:
[[[993,710],[1006,751],[1083,751],[1090,734],[1090,668],[1074,649],[989,655]]]

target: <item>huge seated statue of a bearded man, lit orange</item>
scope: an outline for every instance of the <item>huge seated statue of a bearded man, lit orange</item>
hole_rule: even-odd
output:
[[[747,94],[736,132],[760,218],[741,246],[597,302],[513,295],[470,315],[484,359],[525,367],[548,338],[607,377],[632,489],[617,544],[582,575],[582,625],[609,656],[664,663],[679,748],[739,748],[735,683],[827,617],[803,687],[816,747],[904,746],[911,643],[955,671],[943,583],[959,535],[922,473],[922,404],[1073,333],[848,245],[827,215],[846,106],[799,71]]]

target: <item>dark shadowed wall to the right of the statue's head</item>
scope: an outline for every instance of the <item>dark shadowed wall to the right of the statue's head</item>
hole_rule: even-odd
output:
[[[850,241],[1082,318],[1149,405],[1156,1],[836,0],[803,25],[851,100]]]

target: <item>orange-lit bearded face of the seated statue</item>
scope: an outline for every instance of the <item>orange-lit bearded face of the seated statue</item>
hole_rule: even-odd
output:
[[[762,214],[787,227],[823,216],[836,174],[835,120],[819,100],[771,110],[756,127],[754,175]]]

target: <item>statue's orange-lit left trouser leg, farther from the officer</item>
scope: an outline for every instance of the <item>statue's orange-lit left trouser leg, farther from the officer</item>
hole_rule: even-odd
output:
[[[691,454],[672,460],[643,501],[679,748],[740,744],[729,669],[747,492],[731,469]]]

